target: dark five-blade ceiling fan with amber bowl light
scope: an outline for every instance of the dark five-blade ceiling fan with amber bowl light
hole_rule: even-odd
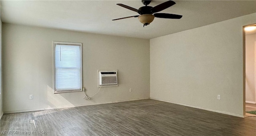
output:
[[[154,17],[170,18],[170,19],[180,19],[182,17],[181,15],[176,15],[176,14],[156,13],[156,12],[160,12],[160,11],[176,4],[172,0],[169,0],[167,2],[164,2],[164,3],[154,6],[154,7],[148,6],[148,4],[150,4],[151,0],[142,0],[141,2],[145,6],[140,7],[138,10],[136,8],[132,8],[132,7],[126,6],[124,4],[117,4],[121,7],[127,8],[128,10],[135,11],[140,15],[122,17],[122,18],[113,19],[113,20],[125,19],[125,18],[130,18],[130,17],[138,17],[139,21],[141,23],[143,23],[143,27],[144,27],[146,25],[149,25],[154,20]]]

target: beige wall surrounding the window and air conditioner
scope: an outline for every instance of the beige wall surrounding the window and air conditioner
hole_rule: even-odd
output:
[[[3,23],[3,111],[92,105],[150,96],[149,40]],[[118,70],[118,87],[53,93],[52,41],[83,44],[83,86],[98,91],[97,70]],[[132,92],[129,92],[132,88]],[[34,99],[29,100],[33,94]]]

